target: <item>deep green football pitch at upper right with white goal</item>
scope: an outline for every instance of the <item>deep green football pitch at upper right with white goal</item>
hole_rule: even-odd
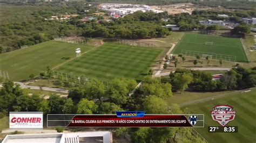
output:
[[[248,62],[239,38],[227,38],[219,35],[185,34],[180,39],[173,54],[187,56],[209,56],[212,59]]]

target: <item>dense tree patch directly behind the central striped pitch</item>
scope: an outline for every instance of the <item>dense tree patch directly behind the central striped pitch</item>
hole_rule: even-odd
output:
[[[113,19],[112,22],[101,20],[99,24],[95,22],[87,22],[78,24],[84,28],[83,35],[85,37],[105,37],[105,38],[152,38],[163,37],[169,34],[167,28],[162,27],[163,21],[167,13],[154,13],[138,11],[132,15],[123,18]]]

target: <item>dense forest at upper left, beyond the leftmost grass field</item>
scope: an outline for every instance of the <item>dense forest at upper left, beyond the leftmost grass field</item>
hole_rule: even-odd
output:
[[[76,27],[68,20],[45,20],[45,18],[77,14],[85,9],[89,9],[91,13],[95,11],[95,8],[79,3],[1,4],[0,53],[24,45],[38,44],[55,37],[82,34],[82,28]]]

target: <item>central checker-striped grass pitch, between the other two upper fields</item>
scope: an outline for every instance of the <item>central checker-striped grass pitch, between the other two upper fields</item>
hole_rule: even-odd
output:
[[[100,80],[110,80],[113,77],[140,80],[161,51],[163,50],[160,48],[105,43],[57,70]]]

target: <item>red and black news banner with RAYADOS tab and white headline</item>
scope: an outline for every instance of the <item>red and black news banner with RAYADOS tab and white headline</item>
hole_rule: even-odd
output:
[[[204,127],[204,115],[147,115],[140,111],[116,115],[48,114],[48,127]]]

